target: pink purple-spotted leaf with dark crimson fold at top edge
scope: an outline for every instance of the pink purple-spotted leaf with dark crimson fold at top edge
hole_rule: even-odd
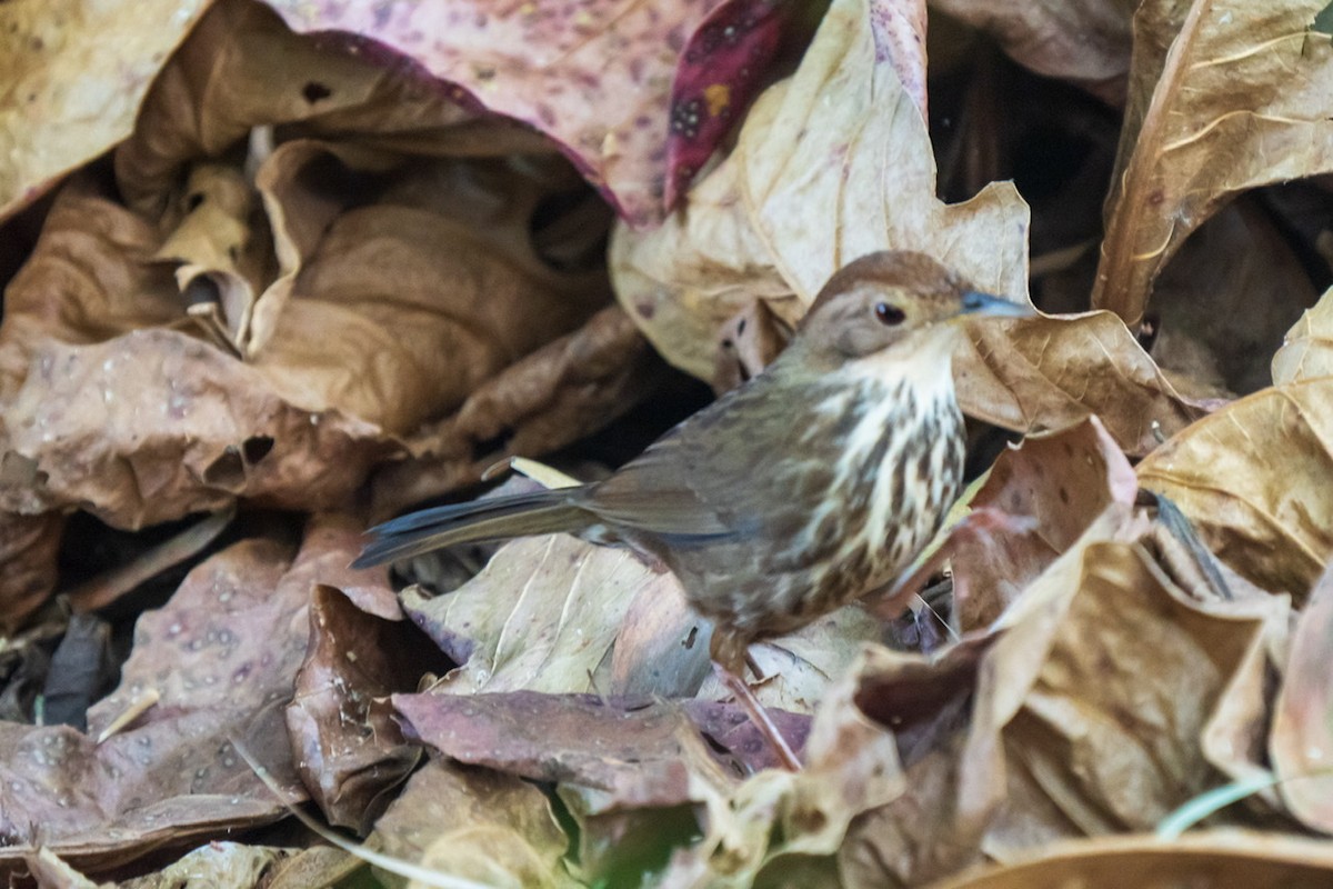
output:
[[[272,5],[299,32],[368,37],[449,84],[455,101],[548,135],[636,225],[661,219],[666,183],[688,181],[725,135],[764,73],[781,11],[764,0],[509,9],[432,0],[388,16]]]

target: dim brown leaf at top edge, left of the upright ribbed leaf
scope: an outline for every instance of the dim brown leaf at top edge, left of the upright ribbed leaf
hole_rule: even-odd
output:
[[[930,0],[992,35],[1018,64],[1120,105],[1129,72],[1132,0]]]

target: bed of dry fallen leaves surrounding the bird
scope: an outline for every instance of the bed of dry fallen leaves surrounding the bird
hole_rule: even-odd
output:
[[[1326,882],[1333,44],[1250,12],[5,4],[0,868],[347,880],[309,800],[493,886]],[[1049,309],[956,367],[964,509],[1021,521],[918,632],[753,646],[802,772],[639,553],[347,568],[509,457],[605,473],[882,248]]]

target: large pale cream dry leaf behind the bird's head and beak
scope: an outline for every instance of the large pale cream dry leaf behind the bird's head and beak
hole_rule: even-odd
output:
[[[864,0],[833,4],[797,73],[760,97],[688,212],[651,233],[616,229],[617,297],[668,361],[710,379],[717,331],[753,300],[790,325],[829,275],[876,249],[925,251],[981,289],[1025,293],[1026,205],[1009,184],[965,204],[936,200],[925,123],[876,35]],[[1157,444],[1153,423],[1170,435],[1197,416],[1114,317],[973,336],[956,361],[972,416],[1030,432],[1094,412],[1132,453]]]

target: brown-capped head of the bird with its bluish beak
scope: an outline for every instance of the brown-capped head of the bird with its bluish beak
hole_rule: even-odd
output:
[[[881,251],[849,263],[828,280],[797,328],[810,357],[841,363],[898,343],[937,340],[978,315],[1025,317],[1026,304],[973,291],[956,273],[913,251]]]

